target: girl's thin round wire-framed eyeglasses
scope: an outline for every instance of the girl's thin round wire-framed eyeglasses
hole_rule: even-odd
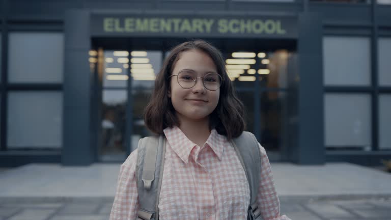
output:
[[[178,75],[171,75],[172,76],[177,76],[178,79],[178,84],[181,86],[183,89],[190,89],[197,84],[197,79],[202,78],[202,82],[204,84],[204,87],[207,90],[210,91],[216,91],[218,88],[221,86],[223,78],[217,73],[208,73],[204,77],[197,76],[195,72],[191,71],[182,71],[178,73]],[[169,78],[170,78],[169,77]]]

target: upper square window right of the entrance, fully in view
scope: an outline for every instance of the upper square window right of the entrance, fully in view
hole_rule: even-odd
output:
[[[370,39],[367,37],[324,37],[324,84],[369,86],[370,54]]]

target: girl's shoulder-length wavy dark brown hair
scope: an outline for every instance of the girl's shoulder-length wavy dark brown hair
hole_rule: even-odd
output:
[[[151,100],[144,112],[145,125],[157,134],[163,134],[163,129],[166,127],[179,127],[176,111],[171,99],[167,96],[171,90],[169,76],[172,74],[181,52],[190,49],[199,49],[207,53],[216,65],[217,73],[223,78],[219,101],[209,116],[210,128],[216,129],[219,134],[226,135],[228,140],[238,137],[245,129],[243,103],[236,96],[220,51],[203,40],[187,41],[179,44],[166,57],[156,77]]]

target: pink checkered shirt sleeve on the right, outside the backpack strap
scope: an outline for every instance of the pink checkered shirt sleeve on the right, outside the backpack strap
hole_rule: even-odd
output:
[[[258,208],[264,220],[291,220],[286,215],[280,215],[280,200],[275,191],[273,175],[266,150],[259,143],[261,151],[261,174],[258,188]]]

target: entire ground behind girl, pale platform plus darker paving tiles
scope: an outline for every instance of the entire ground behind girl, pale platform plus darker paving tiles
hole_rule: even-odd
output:
[[[108,219],[120,164],[30,164],[0,170],[0,220]],[[272,163],[281,213],[292,220],[385,220],[391,174],[349,163]]]

